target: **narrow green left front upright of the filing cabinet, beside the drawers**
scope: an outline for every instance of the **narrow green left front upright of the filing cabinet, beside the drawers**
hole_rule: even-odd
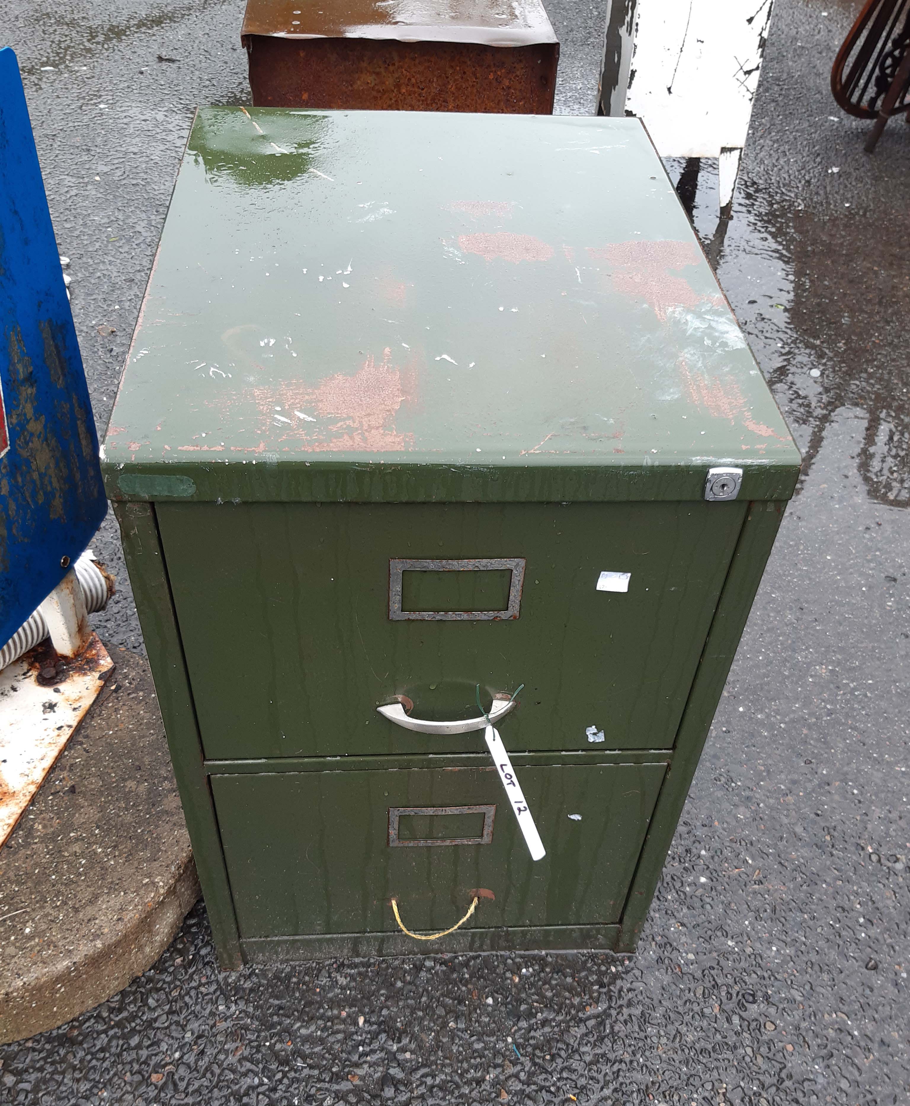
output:
[[[237,921],[155,509],[151,503],[115,503],[114,510],[218,959],[225,969],[239,968]]]

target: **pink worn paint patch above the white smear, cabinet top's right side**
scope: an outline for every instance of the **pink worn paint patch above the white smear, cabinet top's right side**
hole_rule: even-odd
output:
[[[611,246],[588,247],[594,261],[606,261],[614,292],[643,300],[654,309],[661,322],[673,307],[694,307],[701,296],[684,276],[674,271],[697,265],[701,255],[694,242],[661,239],[655,242],[633,240]]]

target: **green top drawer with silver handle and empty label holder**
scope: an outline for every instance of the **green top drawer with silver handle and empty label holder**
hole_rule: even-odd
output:
[[[158,504],[206,757],[469,752],[376,713],[476,716],[519,685],[515,751],[666,749],[745,503]],[[413,573],[390,561],[524,561]],[[401,566],[399,566],[401,567]],[[598,589],[629,573],[628,592]],[[517,617],[477,618],[506,609]],[[452,607],[465,611],[452,618]]]

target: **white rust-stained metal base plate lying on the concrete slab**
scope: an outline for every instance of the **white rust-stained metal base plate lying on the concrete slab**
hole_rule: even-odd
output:
[[[75,659],[42,641],[0,671],[0,845],[113,670],[93,634]]]

